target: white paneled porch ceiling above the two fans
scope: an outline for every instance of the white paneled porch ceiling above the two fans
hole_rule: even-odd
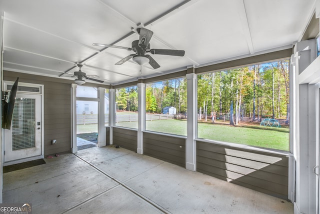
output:
[[[3,69],[74,79],[87,75],[116,85],[292,47],[313,13],[315,0],[0,0]],[[185,55],[152,55],[161,67],[132,60],[142,23],[153,31],[151,48],[183,49]],[[61,74],[63,74],[61,76]],[[87,80],[90,81],[90,80]]]

